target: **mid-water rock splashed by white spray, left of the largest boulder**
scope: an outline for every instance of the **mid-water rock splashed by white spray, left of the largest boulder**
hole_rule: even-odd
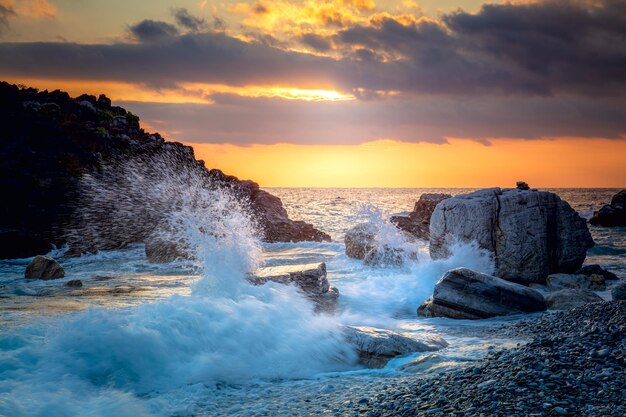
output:
[[[372,223],[356,225],[344,238],[346,255],[353,259],[361,259],[365,265],[401,266],[406,257],[415,258],[416,254],[407,252],[407,244],[415,238],[404,231],[391,230],[394,236],[381,238],[381,230]],[[386,231],[389,232],[389,231]],[[381,242],[384,241],[384,242]]]

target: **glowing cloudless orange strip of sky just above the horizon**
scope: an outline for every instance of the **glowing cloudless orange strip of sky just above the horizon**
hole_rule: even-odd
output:
[[[377,141],[351,146],[190,144],[207,166],[264,187],[626,185],[626,142],[606,139]]]

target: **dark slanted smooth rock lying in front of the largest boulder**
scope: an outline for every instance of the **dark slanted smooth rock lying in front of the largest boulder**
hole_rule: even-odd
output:
[[[435,291],[418,309],[426,317],[482,319],[544,311],[538,291],[467,268],[446,272]]]

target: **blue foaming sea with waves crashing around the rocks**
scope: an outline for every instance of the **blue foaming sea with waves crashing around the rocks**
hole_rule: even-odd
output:
[[[231,197],[211,195],[206,210],[179,213],[198,247],[198,260],[149,263],[144,247],[64,257],[58,280],[26,280],[30,259],[0,261],[1,416],[273,416],[291,395],[332,392],[363,381],[384,384],[425,353],[392,360],[383,369],[356,363],[342,326],[372,326],[438,335],[445,360],[419,372],[464,366],[494,348],[481,321],[425,319],[417,307],[454,267],[493,270],[488,253],[460,245],[433,261],[427,242],[400,267],[365,266],[345,255],[345,232],[362,222],[389,225],[408,214],[423,193],[471,189],[271,188],[290,217],[329,233],[332,242],[260,243],[254,225]],[[615,189],[549,189],[589,218]],[[140,221],[140,219],[138,219]],[[589,226],[595,246],[586,264],[626,279],[626,228]],[[207,232],[208,230],[208,232]],[[388,227],[393,239],[394,228]],[[336,314],[314,314],[295,288],[252,287],[245,273],[262,266],[325,262],[338,288]],[[80,279],[83,286],[64,286]],[[610,297],[608,292],[601,294]],[[550,313],[544,313],[550,314]],[[415,372],[414,370],[412,372]],[[346,388],[348,387],[348,388]],[[283,408],[281,408],[283,407]],[[282,410],[282,411],[281,411]],[[309,415],[318,414],[311,412]]]

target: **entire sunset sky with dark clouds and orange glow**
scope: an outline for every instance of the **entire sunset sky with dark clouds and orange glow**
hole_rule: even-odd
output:
[[[0,79],[264,187],[626,186],[624,0],[0,0]]]

